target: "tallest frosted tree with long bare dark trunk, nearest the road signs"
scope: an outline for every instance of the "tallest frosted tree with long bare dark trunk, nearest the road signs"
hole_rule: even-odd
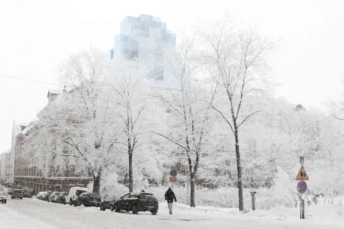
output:
[[[267,58],[274,43],[261,37],[255,29],[236,29],[225,16],[219,22],[200,29],[203,59],[218,88],[222,106],[211,107],[228,124],[234,140],[238,176],[239,210],[244,209],[239,128],[259,110],[243,109],[245,102],[271,86]],[[223,106],[222,101],[227,103]]]

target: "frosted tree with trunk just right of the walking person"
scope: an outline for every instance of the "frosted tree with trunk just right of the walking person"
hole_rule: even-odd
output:
[[[193,45],[193,39],[185,37],[177,49],[168,47],[163,50],[167,61],[164,70],[172,74],[179,85],[177,89],[168,88],[155,95],[165,104],[166,111],[170,114],[167,119],[171,125],[168,125],[168,129],[154,131],[178,146],[182,151],[182,157],[187,161],[191,207],[196,206],[195,184],[204,154],[203,146],[209,130],[210,117],[210,105],[204,102],[210,93],[198,85],[194,78],[197,72],[192,62]],[[211,94],[209,97],[211,101]]]

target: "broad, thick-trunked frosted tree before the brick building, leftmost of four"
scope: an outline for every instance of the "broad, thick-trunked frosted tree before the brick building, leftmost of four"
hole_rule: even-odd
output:
[[[84,161],[92,172],[94,193],[99,193],[102,172],[115,154],[115,121],[102,83],[106,67],[105,54],[95,48],[71,55],[59,66],[62,82],[70,86],[41,114],[41,125],[56,142],[49,151]],[[68,150],[57,150],[57,141]]]

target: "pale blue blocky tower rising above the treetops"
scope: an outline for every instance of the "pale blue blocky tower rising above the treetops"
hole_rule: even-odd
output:
[[[146,68],[147,84],[154,87],[178,88],[175,77],[166,71],[164,50],[175,46],[175,33],[167,29],[160,18],[141,14],[128,16],[121,22],[120,34],[115,36],[114,47],[108,59],[126,57],[136,59]]]

